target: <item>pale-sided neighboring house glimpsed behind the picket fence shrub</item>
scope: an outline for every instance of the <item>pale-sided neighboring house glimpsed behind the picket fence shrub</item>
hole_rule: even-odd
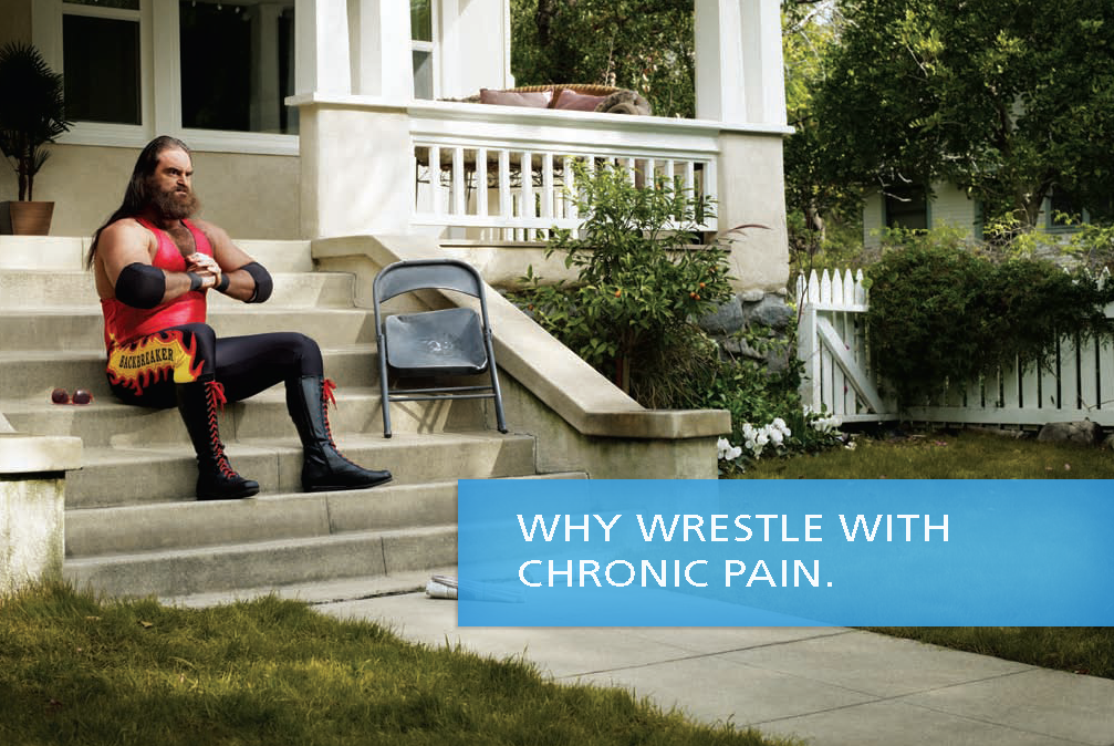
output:
[[[1074,216],[1068,221],[1064,215]],[[1075,232],[1081,222],[1110,221],[1114,217],[1111,200],[1097,210],[1085,210],[1064,193],[1053,192],[1045,198],[1037,230],[1055,240]],[[868,194],[862,206],[862,240],[867,246],[878,246],[888,227],[929,230],[950,225],[971,240],[983,238],[983,211],[979,202],[967,196],[954,184],[934,184],[932,193],[918,185],[892,186],[886,193]]]

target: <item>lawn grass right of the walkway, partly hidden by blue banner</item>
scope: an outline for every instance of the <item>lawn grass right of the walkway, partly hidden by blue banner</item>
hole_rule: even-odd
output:
[[[979,430],[860,436],[853,450],[763,459],[756,479],[1110,479],[1114,454]],[[871,627],[895,637],[1006,660],[1114,678],[1110,627]]]

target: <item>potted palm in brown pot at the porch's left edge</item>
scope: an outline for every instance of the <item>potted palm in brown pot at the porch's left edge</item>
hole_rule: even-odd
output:
[[[8,203],[12,233],[50,232],[53,202],[35,201],[35,175],[50,155],[48,143],[69,130],[62,76],[39,50],[13,41],[0,48],[0,152],[19,178],[19,201]]]

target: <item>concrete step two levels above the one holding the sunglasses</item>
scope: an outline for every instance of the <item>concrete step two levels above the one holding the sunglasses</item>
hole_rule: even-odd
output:
[[[265,331],[301,331],[322,347],[375,341],[370,310],[356,308],[282,308],[219,304],[209,309],[208,323],[219,337]],[[0,313],[2,350],[104,350],[99,308],[38,308]]]

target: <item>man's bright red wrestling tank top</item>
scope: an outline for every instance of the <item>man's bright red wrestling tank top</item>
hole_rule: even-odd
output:
[[[136,221],[158,239],[158,251],[155,252],[152,265],[168,272],[185,272],[186,260],[170,234],[141,217],[136,217]],[[213,246],[209,245],[205,234],[188,221],[184,220],[182,224],[193,234],[197,251],[212,256]],[[105,314],[105,349],[111,355],[115,347],[137,337],[146,337],[184,323],[204,323],[205,291],[194,290],[155,308],[134,308],[115,298],[104,298],[100,301],[100,310]]]

